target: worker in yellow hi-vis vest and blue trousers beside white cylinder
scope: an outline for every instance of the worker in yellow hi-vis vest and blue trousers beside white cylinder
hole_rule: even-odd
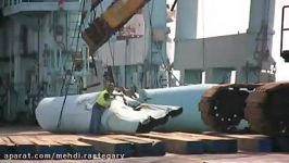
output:
[[[93,104],[91,120],[90,120],[90,127],[89,130],[91,134],[100,134],[101,133],[101,116],[105,109],[111,106],[111,100],[114,90],[114,85],[110,83],[103,91],[97,98],[96,103]]]

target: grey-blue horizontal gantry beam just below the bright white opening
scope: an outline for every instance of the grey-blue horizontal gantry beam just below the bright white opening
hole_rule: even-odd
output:
[[[199,70],[203,63],[205,67],[244,65],[253,55],[254,38],[254,35],[242,34],[178,41],[174,66],[177,70]]]

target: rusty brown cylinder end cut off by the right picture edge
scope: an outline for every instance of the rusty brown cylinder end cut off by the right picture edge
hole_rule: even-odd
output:
[[[265,84],[248,97],[244,116],[251,128],[266,135],[289,135],[289,83]]]

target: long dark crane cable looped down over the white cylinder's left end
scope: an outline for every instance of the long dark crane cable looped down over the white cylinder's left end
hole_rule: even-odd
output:
[[[81,13],[83,13],[84,10],[85,10],[85,0],[81,0],[81,2],[83,2],[83,7],[81,7]],[[83,24],[84,24],[84,16],[81,14],[80,25],[78,26],[78,35],[77,35],[77,41],[76,41],[76,51],[77,51],[78,45],[79,45],[79,36],[80,36]],[[75,59],[75,55],[73,55],[73,61],[74,61],[74,59]],[[74,73],[74,66],[75,66],[75,63],[73,62],[71,74],[68,74],[70,75],[68,82],[72,79],[72,76],[73,76],[73,73]],[[66,82],[66,79],[64,82]],[[66,99],[67,99],[68,89],[70,89],[70,84],[66,84],[65,96],[64,96],[64,100],[63,100],[63,103],[62,103],[62,106],[61,106],[61,112],[60,112],[60,116],[59,116],[59,121],[58,121],[56,130],[59,130],[60,126],[61,126],[62,114],[63,114],[64,105],[65,105],[65,102],[66,102]]]

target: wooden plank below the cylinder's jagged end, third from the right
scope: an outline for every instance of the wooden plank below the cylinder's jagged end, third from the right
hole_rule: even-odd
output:
[[[160,139],[165,143],[166,152],[178,154],[200,154],[204,152],[204,145],[200,139],[181,138],[161,133],[138,134],[140,137]]]

